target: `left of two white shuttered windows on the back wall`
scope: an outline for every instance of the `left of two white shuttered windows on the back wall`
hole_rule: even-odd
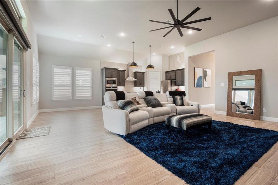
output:
[[[72,100],[72,67],[52,66],[52,100]]]

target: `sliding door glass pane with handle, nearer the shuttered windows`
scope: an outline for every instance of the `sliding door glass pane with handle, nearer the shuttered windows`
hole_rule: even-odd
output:
[[[22,64],[23,48],[14,40],[13,57],[13,125],[14,134],[23,126],[23,85],[22,85]]]

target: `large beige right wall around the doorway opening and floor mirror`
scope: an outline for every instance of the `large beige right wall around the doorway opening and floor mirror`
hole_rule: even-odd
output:
[[[278,118],[277,33],[278,16],[186,46],[185,74],[189,56],[215,51],[215,110],[225,112],[228,72],[262,69],[261,116]]]

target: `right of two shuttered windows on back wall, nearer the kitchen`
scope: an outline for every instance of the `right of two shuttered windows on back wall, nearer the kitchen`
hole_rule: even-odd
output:
[[[92,99],[92,69],[74,68],[74,99]]]

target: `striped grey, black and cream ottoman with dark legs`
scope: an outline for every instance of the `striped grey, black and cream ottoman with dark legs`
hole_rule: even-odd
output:
[[[204,114],[178,114],[172,115],[165,118],[166,128],[170,129],[170,125],[181,128],[184,130],[184,134],[187,135],[188,129],[201,127],[208,125],[208,128],[211,128],[212,117]]]

